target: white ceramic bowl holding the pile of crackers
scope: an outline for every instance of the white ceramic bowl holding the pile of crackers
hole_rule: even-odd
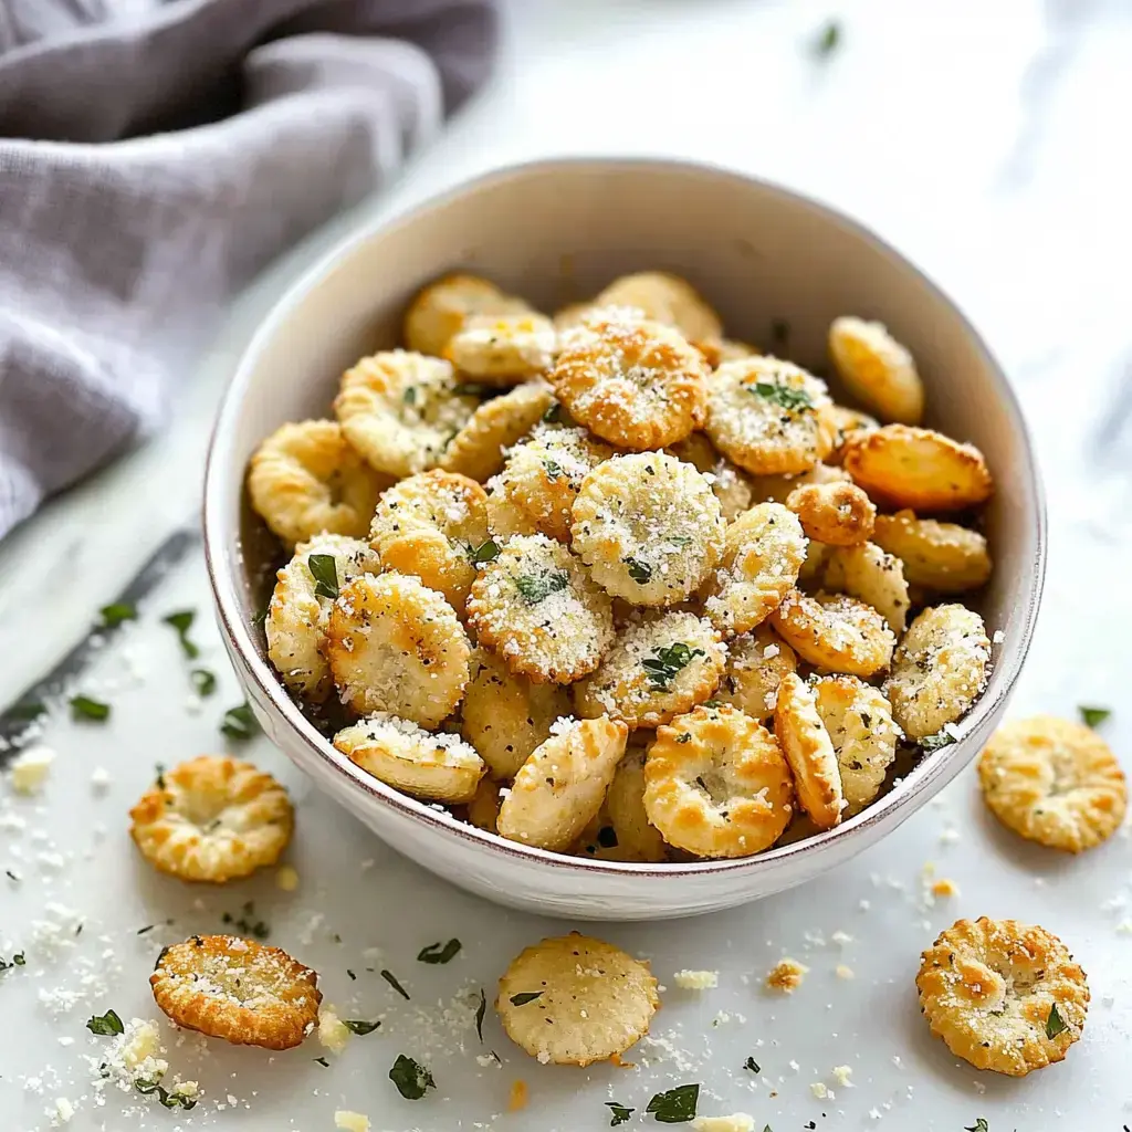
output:
[[[378,782],[299,711],[265,655],[255,614],[269,557],[243,500],[248,457],[284,421],[323,417],[341,372],[396,344],[401,315],[429,280],[466,267],[554,310],[616,275],[687,276],[728,332],[770,342],[789,320],[789,355],[822,367],[837,315],[882,319],[919,363],[928,423],[986,454],[997,490],[986,526],[995,558],[983,597],[1001,631],[983,698],[962,738],[926,758],[864,813],[757,857],[625,865],[504,841]],[[981,748],[1018,678],[1038,609],[1045,514],[1006,378],[963,316],[876,237],[797,194],[720,169],[667,161],[572,160],[489,174],[349,239],[275,307],[240,360],[216,423],[204,503],[205,550],[224,641],[256,717],[303,771],[401,852],[489,900],[590,919],[688,916],[816,876],[909,818]]]

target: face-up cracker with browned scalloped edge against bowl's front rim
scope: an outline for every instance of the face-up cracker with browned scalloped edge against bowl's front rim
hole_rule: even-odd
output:
[[[649,821],[697,857],[761,852],[794,813],[794,780],[774,736],[728,704],[658,728],[644,778]]]

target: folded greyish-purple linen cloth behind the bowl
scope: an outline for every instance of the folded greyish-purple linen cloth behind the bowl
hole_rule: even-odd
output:
[[[0,0],[0,537],[491,66],[494,0]]]

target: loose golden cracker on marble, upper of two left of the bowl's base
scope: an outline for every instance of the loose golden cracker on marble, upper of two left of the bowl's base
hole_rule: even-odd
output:
[[[274,865],[293,829],[286,790],[228,755],[198,755],[162,771],[130,811],[130,837],[154,868],[211,884]]]

